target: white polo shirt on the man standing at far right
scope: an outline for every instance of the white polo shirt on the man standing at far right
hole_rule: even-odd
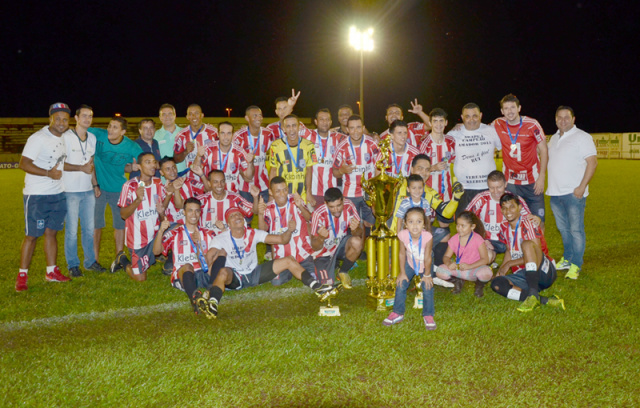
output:
[[[587,169],[587,157],[598,154],[593,138],[587,132],[572,127],[560,137],[560,131],[551,137],[548,144],[547,195],[561,196],[573,193],[582,182]],[[589,195],[589,186],[584,196]]]

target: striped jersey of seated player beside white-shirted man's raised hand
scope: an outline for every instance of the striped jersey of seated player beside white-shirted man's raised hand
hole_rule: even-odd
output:
[[[302,262],[313,253],[313,249],[311,249],[307,220],[302,216],[302,211],[296,205],[293,196],[289,194],[287,204],[283,207],[278,207],[275,200],[271,200],[264,210],[264,221],[269,228],[269,234],[280,235],[287,231],[287,223],[292,217],[295,217],[297,229],[291,235],[291,241],[288,244],[273,245],[274,259],[291,255],[298,262]]]

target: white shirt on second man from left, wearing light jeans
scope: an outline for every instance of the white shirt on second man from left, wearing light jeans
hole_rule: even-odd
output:
[[[96,136],[87,132],[87,138],[83,142],[74,130],[65,132],[62,135],[67,150],[65,162],[76,165],[83,165],[89,162],[96,153]],[[93,190],[91,184],[91,174],[83,171],[63,171],[62,182],[64,191],[68,193],[78,193]]]

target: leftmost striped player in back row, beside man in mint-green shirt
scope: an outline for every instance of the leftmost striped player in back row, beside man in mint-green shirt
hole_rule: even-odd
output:
[[[196,159],[198,146],[206,147],[218,140],[216,128],[202,123],[202,119],[204,119],[204,113],[202,113],[200,105],[189,105],[187,108],[189,126],[178,133],[176,142],[173,145],[173,158],[176,163],[185,162],[187,167],[191,167],[191,164]],[[186,174],[187,178],[196,178],[193,173],[187,172]]]

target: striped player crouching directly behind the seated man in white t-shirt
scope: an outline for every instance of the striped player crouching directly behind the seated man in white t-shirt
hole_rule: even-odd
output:
[[[242,198],[242,196],[227,191],[224,173],[222,170],[211,170],[209,173],[209,184],[211,191],[197,197],[202,203],[202,216],[200,227],[213,235],[218,235],[225,231],[228,226],[225,223],[224,214],[229,208],[237,208],[245,218],[251,219],[257,213],[259,201],[257,199],[259,191],[257,187],[251,187],[253,194],[253,204]]]

